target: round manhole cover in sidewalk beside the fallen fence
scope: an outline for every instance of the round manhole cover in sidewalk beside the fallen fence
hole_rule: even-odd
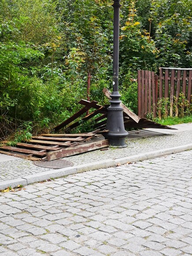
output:
[[[34,165],[44,167],[44,168],[51,168],[51,169],[61,169],[69,166],[73,166],[73,163],[64,159],[56,159],[53,161],[35,161]]]

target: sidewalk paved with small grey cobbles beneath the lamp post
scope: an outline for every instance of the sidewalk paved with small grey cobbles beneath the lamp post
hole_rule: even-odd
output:
[[[110,148],[108,151],[91,151],[86,154],[74,155],[64,158],[74,163],[74,166],[105,159],[117,159],[132,156],[141,152],[151,152],[168,147],[175,147],[192,143],[192,130],[177,132],[171,135],[148,137],[143,139],[127,140],[126,148]],[[0,181],[7,181],[35,173],[43,173],[48,168],[35,166],[33,162],[24,159],[0,163]]]

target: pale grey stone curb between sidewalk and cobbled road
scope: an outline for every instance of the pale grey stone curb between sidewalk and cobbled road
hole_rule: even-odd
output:
[[[35,173],[33,175],[28,175],[28,176],[18,178],[18,179],[13,179],[10,181],[2,181],[2,182],[0,182],[0,190],[3,190],[10,186],[12,188],[14,188],[14,187],[18,186],[19,184],[28,185],[28,184],[32,184],[34,182],[45,181],[50,178],[58,178],[58,177],[63,177],[63,176],[70,175],[70,174],[82,173],[82,172],[89,171],[89,170],[114,167],[114,166],[117,166],[118,163],[120,163],[121,165],[124,165],[127,162],[144,161],[144,160],[161,157],[161,156],[168,155],[168,154],[175,154],[175,153],[179,153],[179,152],[191,150],[191,149],[192,149],[192,143],[177,146],[177,147],[160,149],[160,150],[153,151],[153,152],[136,154],[136,155],[127,156],[127,157],[123,157],[123,158],[109,159],[109,160],[105,159],[102,161],[87,163],[87,164],[83,164],[83,165],[79,165],[79,166],[50,170],[50,171],[46,171],[43,173]]]

